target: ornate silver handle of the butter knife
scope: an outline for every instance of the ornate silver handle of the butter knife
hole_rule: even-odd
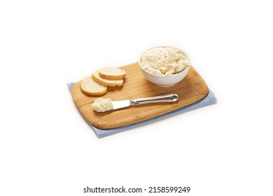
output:
[[[130,100],[131,105],[135,104],[153,104],[153,103],[164,103],[164,102],[176,102],[179,99],[178,94],[162,94],[156,97],[136,98]]]

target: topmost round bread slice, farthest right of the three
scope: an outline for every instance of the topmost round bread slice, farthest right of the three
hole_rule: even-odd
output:
[[[108,80],[118,80],[125,78],[126,71],[120,68],[106,66],[103,69],[99,69],[99,77]]]

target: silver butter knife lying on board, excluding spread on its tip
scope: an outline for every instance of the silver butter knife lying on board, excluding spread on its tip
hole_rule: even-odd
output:
[[[113,104],[113,109],[122,109],[129,106],[140,105],[140,104],[154,104],[154,103],[167,103],[167,102],[176,102],[179,99],[178,94],[163,94],[156,97],[146,97],[146,98],[136,98],[131,100],[123,101],[111,101]]]

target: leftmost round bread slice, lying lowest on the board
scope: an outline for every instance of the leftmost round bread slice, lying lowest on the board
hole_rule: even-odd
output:
[[[107,92],[107,87],[94,81],[91,77],[83,78],[80,81],[80,90],[87,95],[102,95]]]

